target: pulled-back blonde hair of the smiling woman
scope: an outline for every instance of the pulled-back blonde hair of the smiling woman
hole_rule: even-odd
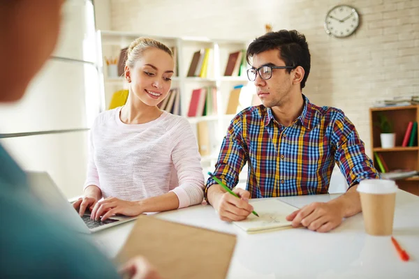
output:
[[[145,52],[145,50],[149,49],[150,47],[163,50],[163,52],[167,52],[173,58],[173,53],[167,45],[160,43],[158,40],[154,40],[152,38],[140,37],[133,40],[131,45],[129,45],[128,51],[126,52],[125,65],[133,68],[135,61],[140,59],[143,52]]]

